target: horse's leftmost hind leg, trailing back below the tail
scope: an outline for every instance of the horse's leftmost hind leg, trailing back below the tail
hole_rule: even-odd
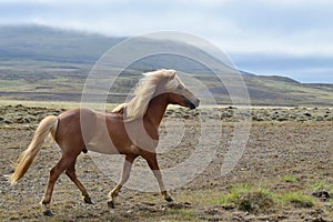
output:
[[[48,186],[47,191],[44,194],[44,198],[42,199],[41,203],[46,208],[44,215],[53,215],[53,212],[50,209],[50,202],[52,198],[52,192],[54,188],[54,183],[58,180],[59,175],[69,168],[71,162],[75,159],[77,157],[64,157],[60,159],[60,161],[51,169],[50,175],[49,175],[49,181],[48,181]]]

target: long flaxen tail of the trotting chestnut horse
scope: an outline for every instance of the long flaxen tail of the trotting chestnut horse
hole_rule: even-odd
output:
[[[52,134],[53,139],[56,138],[58,118],[54,115],[47,117],[39,123],[31,143],[28,149],[20,154],[16,170],[9,178],[11,184],[16,184],[23,178],[49,133]]]

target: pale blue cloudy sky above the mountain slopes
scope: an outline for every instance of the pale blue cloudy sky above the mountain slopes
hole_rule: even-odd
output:
[[[203,38],[238,69],[333,83],[331,0],[0,0],[0,24]]]

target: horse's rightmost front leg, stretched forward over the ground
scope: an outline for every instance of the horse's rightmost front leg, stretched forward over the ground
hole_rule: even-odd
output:
[[[147,160],[149,168],[152,170],[154,176],[157,178],[157,180],[159,182],[159,186],[160,186],[162,196],[164,198],[165,201],[172,202],[173,198],[170,195],[170,193],[165,189],[162,173],[160,171],[160,167],[158,163],[157,153],[149,153],[149,154],[144,155],[143,158]]]

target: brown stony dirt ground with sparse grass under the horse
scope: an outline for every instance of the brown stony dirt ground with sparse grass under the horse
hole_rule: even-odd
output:
[[[220,122],[222,128],[219,148],[211,163],[195,179],[171,191],[175,200],[173,203],[164,202],[158,192],[123,188],[117,199],[117,208],[108,209],[107,195],[115,182],[99,170],[89,153],[82,153],[78,159],[77,174],[95,204],[84,204],[79,190],[62,174],[51,202],[56,215],[46,218],[39,202],[49,170],[60,158],[59,148],[46,142],[17,185],[10,186],[7,175],[13,171],[12,165],[20,152],[27,149],[38,122],[63,110],[1,107],[0,221],[333,221],[332,196],[323,200],[312,195],[317,189],[333,190],[333,110],[254,109],[250,117],[252,127],[246,148],[235,168],[221,176],[221,165],[233,140],[234,123],[242,120],[235,110],[175,109],[167,112],[165,120],[182,121],[181,127],[185,130],[178,150],[159,155],[162,169],[184,161],[193,152],[200,130],[198,113],[206,120],[215,120],[216,124]],[[165,133],[163,124],[161,133]],[[122,159],[121,155],[119,158]],[[132,171],[144,164],[139,159]],[[246,211],[236,203],[222,203],[231,188],[245,183],[280,196],[301,193],[313,204],[294,204],[276,199],[265,210]]]

